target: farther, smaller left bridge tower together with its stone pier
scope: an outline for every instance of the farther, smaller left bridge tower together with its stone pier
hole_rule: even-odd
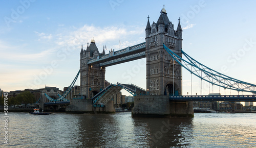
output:
[[[100,56],[105,55],[104,47],[103,52],[99,50],[92,39],[91,43],[87,45],[86,50],[81,48],[80,52],[80,92],[82,99],[71,99],[70,105],[66,108],[66,113],[113,113],[115,108],[113,101],[105,104],[105,107],[94,107],[91,98],[98,92],[105,88],[105,67],[88,64],[90,59],[99,59]]]

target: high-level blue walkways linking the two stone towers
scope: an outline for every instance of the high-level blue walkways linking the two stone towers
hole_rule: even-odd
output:
[[[145,49],[146,49],[146,42],[126,47],[119,51],[112,51],[110,54],[106,54],[103,56],[99,56],[94,59],[90,59],[88,61],[88,64],[90,65],[96,65],[99,64],[99,66],[111,66],[127,61],[132,61],[140,58],[144,58],[145,55]]]

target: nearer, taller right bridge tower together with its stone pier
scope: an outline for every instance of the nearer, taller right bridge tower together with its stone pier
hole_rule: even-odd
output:
[[[193,117],[193,104],[170,101],[170,95],[182,95],[181,65],[164,49],[165,44],[182,56],[182,29],[177,30],[162,8],[157,22],[146,25],[146,89],[147,95],[134,97],[133,117]]]

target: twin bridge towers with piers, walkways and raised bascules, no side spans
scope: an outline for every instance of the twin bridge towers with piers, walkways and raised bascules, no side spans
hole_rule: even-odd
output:
[[[175,103],[176,106],[180,106],[182,109],[175,109],[173,111],[172,107],[170,107],[173,104],[169,102],[169,96],[182,94],[182,66],[175,64],[172,56],[163,47],[163,43],[175,54],[182,57],[182,28],[180,19],[175,30],[174,24],[169,21],[164,8],[161,10],[157,22],[153,22],[152,25],[150,24],[150,17],[147,17],[145,42],[143,43],[126,47],[119,51],[111,50],[109,54],[105,54],[104,48],[102,53],[99,52],[95,40],[92,39],[86,49],[81,47],[80,52],[81,95],[88,98],[88,100],[71,100],[70,106],[66,111],[95,111],[100,110],[97,107],[103,107],[102,111],[112,112],[114,108],[109,103],[112,101],[112,95],[122,88],[129,87],[127,85],[126,87],[120,87],[125,85],[117,83],[105,88],[105,67],[146,58],[146,90],[139,93],[134,92],[134,94],[139,95],[135,95],[133,115],[170,115],[182,113],[185,116],[193,116],[192,103],[190,102]],[[128,90],[131,91],[132,89]],[[81,104],[83,107],[81,107]],[[87,106],[87,108],[84,108],[84,106]],[[151,106],[159,106],[159,108],[156,111]]]

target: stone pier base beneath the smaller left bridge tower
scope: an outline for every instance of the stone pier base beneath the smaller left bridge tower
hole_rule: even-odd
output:
[[[105,107],[93,107],[92,100],[72,99],[66,108],[66,113],[114,113],[113,101],[106,103]]]

